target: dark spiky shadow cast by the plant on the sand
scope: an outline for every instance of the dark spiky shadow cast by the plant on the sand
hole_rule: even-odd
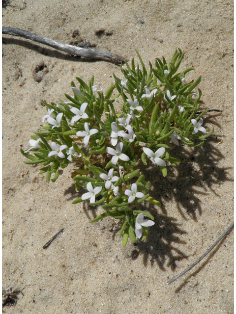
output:
[[[210,118],[213,118],[212,116]],[[216,124],[215,121],[208,118],[207,122]],[[181,240],[181,235],[186,234],[177,223],[177,219],[168,217],[167,204],[174,201],[177,209],[184,219],[193,219],[197,222],[197,214],[201,215],[202,207],[198,195],[207,195],[217,193],[214,191],[214,185],[218,187],[225,181],[233,181],[227,175],[228,168],[219,167],[218,163],[224,158],[224,155],[217,148],[220,142],[217,135],[211,135],[201,147],[186,147],[181,144],[171,151],[171,156],[181,160],[176,166],[168,166],[168,174],[163,177],[160,169],[157,169],[150,161],[145,166],[142,163],[138,165],[141,174],[145,175],[146,182],[152,183],[150,196],[161,203],[162,214],[157,212],[157,208],[145,202],[139,205],[139,209],[146,210],[154,216],[155,225],[149,229],[148,238],[145,242],[138,241],[134,243],[134,250],[130,254],[131,259],[136,259],[140,254],[143,255],[144,265],[150,262],[153,266],[157,262],[160,269],[165,270],[164,265],[175,269],[176,262],[182,259],[188,259],[187,254],[181,252],[175,247],[175,244],[186,244]],[[73,187],[65,191],[65,195],[71,194],[70,199],[80,197],[86,191],[76,193]],[[89,219],[90,215],[95,218],[96,207],[90,207],[88,204],[83,206]],[[92,218],[92,219],[93,219]],[[114,229],[113,238],[118,236],[119,229]]]

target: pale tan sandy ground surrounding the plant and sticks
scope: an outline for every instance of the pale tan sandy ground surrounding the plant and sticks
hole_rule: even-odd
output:
[[[76,76],[105,90],[119,67],[3,35],[2,286],[22,289],[8,314],[232,314],[233,231],[213,252],[170,286],[233,222],[233,1],[6,0],[2,25],[71,43],[77,39],[129,60],[137,49],[148,66],[169,61],[179,47],[187,79],[202,75],[205,126],[215,128],[202,148],[175,149],[182,163],[167,178],[149,173],[161,208],[145,243],[122,248],[116,221],[89,221],[101,212],[72,205],[78,197],[70,170],[46,183],[40,166],[26,165],[20,147],[46,114],[40,99],[72,94]],[[144,21],[139,24],[137,15]],[[104,32],[97,36],[96,32]],[[98,34],[99,35],[99,34]],[[79,38],[80,37],[80,38]],[[34,69],[43,60],[44,69]],[[42,246],[61,228],[64,232]]]

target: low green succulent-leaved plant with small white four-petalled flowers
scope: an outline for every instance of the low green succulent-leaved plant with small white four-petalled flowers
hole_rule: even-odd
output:
[[[140,210],[139,204],[160,206],[148,194],[151,182],[140,173],[140,162],[147,165],[150,159],[165,177],[168,164],[180,162],[171,156],[171,147],[179,142],[201,146],[214,131],[207,133],[202,127],[207,110],[194,118],[201,106],[202,92],[197,88],[201,77],[187,82],[186,74],[194,68],[177,73],[181,50],[169,63],[164,57],[156,58],[153,68],[149,62],[149,72],[137,54],[141,66],[135,65],[134,59],[131,65],[121,65],[122,78],[114,75],[115,83],[105,94],[93,85],[93,77],[89,84],[76,78],[79,86],[71,83],[74,95],[65,94],[67,101],[42,101],[48,108],[42,119],[44,127],[31,136],[27,151],[21,149],[29,159],[25,163],[43,165],[39,173],[46,173],[47,182],[55,182],[59,169],[73,162],[76,191],[80,187],[88,191],[73,204],[87,200],[90,206],[105,209],[91,222],[107,216],[120,220],[123,246],[128,238],[145,240],[148,227],[154,225],[153,216]]]

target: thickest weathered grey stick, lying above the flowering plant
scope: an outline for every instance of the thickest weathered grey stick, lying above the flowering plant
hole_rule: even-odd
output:
[[[73,45],[63,44],[57,40],[39,36],[37,34],[30,33],[27,30],[23,30],[21,28],[2,26],[2,34],[24,37],[26,39],[36,41],[40,44],[53,47],[57,50],[70,52],[70,53],[73,53],[73,54],[76,54],[85,58],[106,60],[106,61],[110,61],[116,64],[121,64],[121,63],[124,63],[124,61],[126,61],[126,59],[112,52],[99,50],[99,49],[81,48],[81,47],[76,47]]]

